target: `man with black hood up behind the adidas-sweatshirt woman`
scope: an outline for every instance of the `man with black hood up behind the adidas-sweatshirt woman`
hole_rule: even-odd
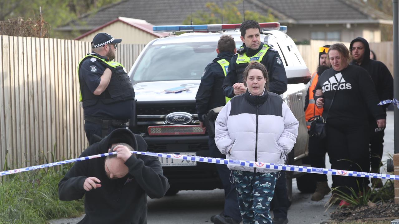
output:
[[[370,59],[369,43],[362,37],[357,37],[350,43],[350,53],[353,57],[352,65],[363,67],[371,79],[379,100],[393,99],[393,78],[388,68],[381,61]],[[389,104],[383,105],[384,111]],[[377,128],[375,119],[369,113],[370,126],[370,161],[371,173],[379,173],[383,153],[384,129]],[[371,178],[371,184],[375,187],[383,187],[381,179]]]

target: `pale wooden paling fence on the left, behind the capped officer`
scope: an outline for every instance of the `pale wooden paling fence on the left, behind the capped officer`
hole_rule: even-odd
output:
[[[0,44],[0,170],[79,156],[88,143],[77,65],[90,43],[0,35]],[[116,60],[129,71],[143,47],[120,44]]]

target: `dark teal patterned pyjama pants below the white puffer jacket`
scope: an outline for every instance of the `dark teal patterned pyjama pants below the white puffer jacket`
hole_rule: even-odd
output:
[[[233,170],[238,204],[244,224],[272,224],[270,202],[278,172],[254,173]]]

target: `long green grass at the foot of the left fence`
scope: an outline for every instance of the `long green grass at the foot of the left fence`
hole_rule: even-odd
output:
[[[73,164],[4,176],[0,184],[0,223],[43,224],[79,216],[83,200],[58,199],[58,182]],[[8,170],[5,165],[3,170]]]

